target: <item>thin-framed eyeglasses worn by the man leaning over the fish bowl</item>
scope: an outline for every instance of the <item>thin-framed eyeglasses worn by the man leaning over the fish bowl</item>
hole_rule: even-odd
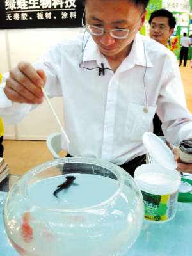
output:
[[[85,10],[84,10],[84,13],[85,13]],[[84,13],[83,13],[83,17],[84,17]],[[143,15],[143,13],[141,14],[141,16]],[[110,35],[113,37],[113,38],[118,38],[118,39],[124,39],[124,38],[127,38],[129,36],[129,34],[133,33],[136,28],[138,27],[138,24],[141,20],[141,17],[140,17],[140,20],[138,20],[138,24],[136,26],[136,28],[132,31],[129,31],[129,29],[111,29],[111,30],[104,30],[103,28],[98,28],[96,26],[92,26],[92,25],[84,25],[83,24],[83,17],[82,17],[82,26],[86,29],[86,31],[88,33],[90,33],[91,35],[95,35],[95,36],[101,36],[104,32],[109,32]]]

